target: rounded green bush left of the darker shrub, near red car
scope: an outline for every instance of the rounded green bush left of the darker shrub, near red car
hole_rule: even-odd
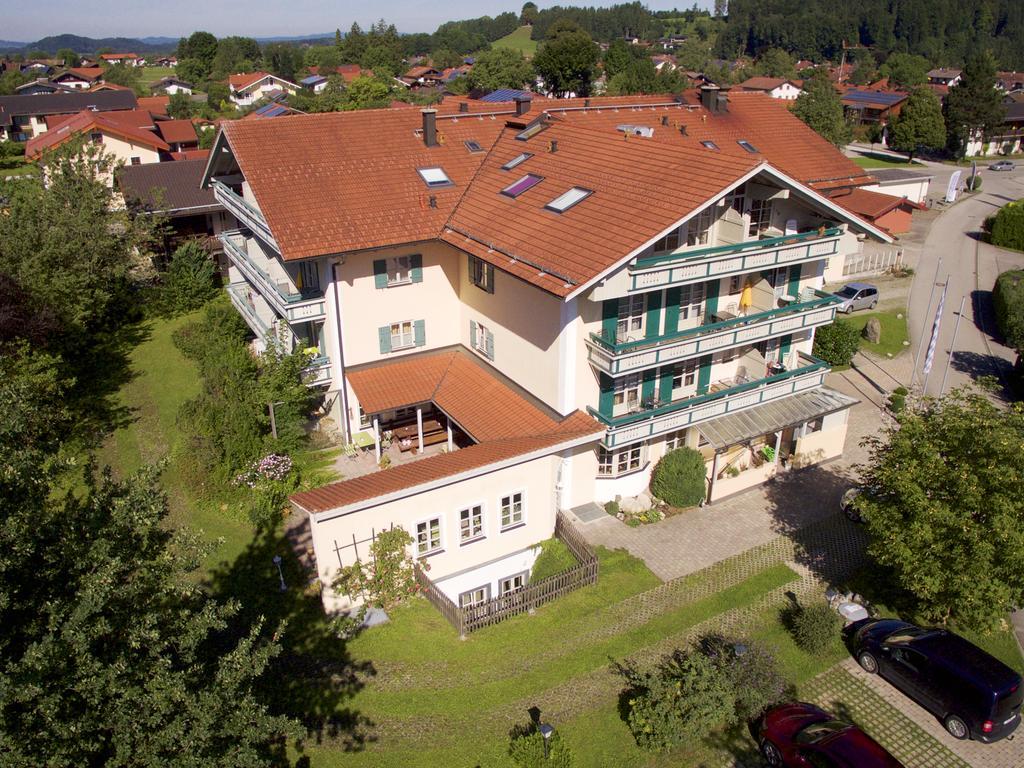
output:
[[[732,722],[734,697],[725,673],[695,650],[676,650],[657,667],[620,667],[629,683],[627,722],[637,744],[670,750]]]

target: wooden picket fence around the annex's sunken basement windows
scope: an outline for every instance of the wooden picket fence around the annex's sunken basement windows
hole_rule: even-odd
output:
[[[466,637],[481,627],[488,627],[510,616],[530,612],[556,597],[597,582],[597,556],[580,531],[561,512],[557,513],[555,518],[555,537],[572,553],[577,560],[575,565],[540,582],[527,584],[517,592],[492,598],[479,605],[460,608],[419,567],[416,568],[416,581],[423,595],[456,629],[459,636]]]

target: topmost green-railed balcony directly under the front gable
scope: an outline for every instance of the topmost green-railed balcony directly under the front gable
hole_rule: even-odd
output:
[[[649,291],[825,259],[839,253],[839,241],[845,231],[843,226],[821,227],[776,238],[644,256],[629,266],[629,290]]]

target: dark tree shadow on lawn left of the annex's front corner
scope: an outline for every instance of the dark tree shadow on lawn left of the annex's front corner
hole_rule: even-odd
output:
[[[279,555],[284,591],[273,562]],[[280,529],[257,530],[246,550],[218,566],[208,584],[217,597],[240,602],[237,633],[261,617],[268,632],[284,625],[282,653],[260,683],[273,714],[301,722],[317,744],[357,752],[375,740],[374,724],[347,703],[376,674],[373,663],[352,659],[345,641],[331,631],[319,596],[308,589],[308,571]]]

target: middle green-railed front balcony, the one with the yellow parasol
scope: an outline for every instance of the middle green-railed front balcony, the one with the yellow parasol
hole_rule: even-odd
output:
[[[757,344],[771,338],[826,326],[836,318],[840,299],[810,290],[802,301],[755,314],[707,323],[645,339],[608,339],[592,333],[588,339],[590,361],[610,376],[634,373],[698,357],[731,347]]]

